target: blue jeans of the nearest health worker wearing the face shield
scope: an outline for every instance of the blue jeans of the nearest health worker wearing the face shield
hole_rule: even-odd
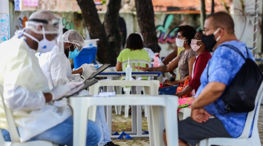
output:
[[[41,125],[39,125],[41,126]],[[86,138],[86,146],[95,146],[101,140],[101,131],[96,123],[93,121],[88,122],[88,131]],[[9,132],[5,129],[1,129],[5,141],[11,141]],[[73,145],[73,117],[58,124],[55,127],[48,129],[47,131],[31,138],[32,140],[47,140],[59,145]]]

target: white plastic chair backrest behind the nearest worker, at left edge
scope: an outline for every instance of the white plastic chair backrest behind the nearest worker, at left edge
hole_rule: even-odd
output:
[[[12,114],[11,110],[4,103],[4,96],[3,96],[3,92],[1,91],[1,89],[0,89],[0,95],[2,98],[2,104],[4,106],[4,110],[5,110],[5,114],[6,114],[6,121],[7,121],[8,127],[9,127],[8,130],[9,130],[9,135],[10,135],[11,141],[12,142],[20,142],[20,138],[19,138],[16,126],[15,126],[15,120],[14,120],[13,114]]]

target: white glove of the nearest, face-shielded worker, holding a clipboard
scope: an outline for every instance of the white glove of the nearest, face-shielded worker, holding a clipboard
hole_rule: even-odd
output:
[[[76,87],[84,84],[83,82],[70,82],[67,85],[58,85],[51,91],[52,94],[52,100],[58,100],[62,98],[64,95],[67,95],[70,93],[74,93],[76,91]],[[78,87],[79,88],[79,87]]]

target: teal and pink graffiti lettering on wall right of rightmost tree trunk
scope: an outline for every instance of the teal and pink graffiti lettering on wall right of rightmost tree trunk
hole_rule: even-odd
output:
[[[172,44],[175,42],[175,39],[177,38],[177,30],[178,26],[172,27],[172,22],[174,21],[174,15],[169,14],[166,16],[163,25],[158,25],[155,29],[158,37],[158,42],[161,44]],[[180,25],[189,25],[188,17],[184,17]],[[172,27],[172,28],[170,28]],[[196,28],[196,31],[199,31],[201,29],[200,25]]]

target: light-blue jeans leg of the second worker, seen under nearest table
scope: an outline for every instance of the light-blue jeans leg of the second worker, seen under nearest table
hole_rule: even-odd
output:
[[[104,106],[97,106],[95,122],[96,124],[98,124],[98,126],[101,128],[102,131],[101,141],[98,143],[98,146],[106,145],[108,142],[111,141],[110,139],[111,131],[109,131],[108,125],[106,123]]]

